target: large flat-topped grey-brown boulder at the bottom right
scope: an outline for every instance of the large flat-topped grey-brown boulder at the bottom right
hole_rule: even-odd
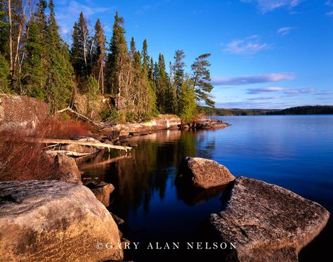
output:
[[[329,218],[320,204],[252,178],[237,178],[223,199],[210,224],[219,240],[235,243],[227,261],[298,261]]]

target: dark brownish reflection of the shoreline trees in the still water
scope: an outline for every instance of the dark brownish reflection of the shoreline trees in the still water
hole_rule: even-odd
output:
[[[129,143],[135,141],[138,147],[131,150],[131,155],[103,152],[95,159],[80,162],[79,167],[84,171],[83,177],[98,176],[100,180],[115,185],[111,208],[116,214],[122,214],[127,219],[130,213],[136,214],[140,207],[143,207],[145,214],[149,214],[152,197],[163,201],[167,181],[173,183],[183,156],[195,157],[200,145],[207,149],[214,147],[211,141],[205,144],[204,139],[197,140],[198,133],[193,130],[168,130],[134,137]],[[207,149],[203,151],[209,151]],[[198,195],[192,197],[199,202]],[[189,197],[184,201],[191,202]]]

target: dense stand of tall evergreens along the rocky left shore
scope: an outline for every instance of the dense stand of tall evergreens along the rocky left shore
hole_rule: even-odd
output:
[[[55,20],[53,0],[0,2],[0,91],[45,100],[52,112],[72,103],[75,93],[110,100],[110,119],[143,121],[178,114],[190,121],[199,104],[214,107],[209,53],[195,58],[185,72],[185,53],[175,52],[166,68],[164,55],[156,61],[133,37],[128,44],[124,18],[115,14],[107,42],[97,19],[89,25],[80,13],[70,46],[63,41]]]

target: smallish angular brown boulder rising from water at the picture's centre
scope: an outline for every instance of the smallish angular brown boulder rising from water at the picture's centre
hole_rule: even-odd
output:
[[[212,188],[233,181],[230,171],[218,162],[201,157],[186,157],[181,163],[176,183],[190,183],[195,188]]]

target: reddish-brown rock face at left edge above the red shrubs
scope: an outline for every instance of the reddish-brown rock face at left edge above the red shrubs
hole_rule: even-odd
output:
[[[48,105],[28,96],[0,95],[0,131],[33,131],[48,116]]]

